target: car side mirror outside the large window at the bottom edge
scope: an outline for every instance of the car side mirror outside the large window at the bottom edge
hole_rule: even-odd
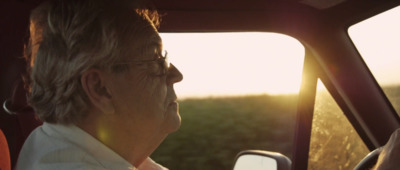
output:
[[[290,170],[292,161],[277,152],[246,150],[236,156],[233,170]]]

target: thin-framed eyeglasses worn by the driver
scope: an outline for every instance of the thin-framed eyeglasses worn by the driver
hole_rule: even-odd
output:
[[[136,61],[126,61],[122,63],[115,63],[115,65],[124,65],[124,64],[149,64],[149,72],[155,76],[163,76],[166,75],[168,69],[170,67],[170,63],[168,61],[168,52],[164,50],[162,54],[158,56],[156,59],[151,60],[136,60]]]

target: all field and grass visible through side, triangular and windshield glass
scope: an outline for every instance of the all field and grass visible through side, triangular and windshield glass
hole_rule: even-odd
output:
[[[385,91],[400,99],[400,88]],[[297,95],[186,99],[180,130],[152,158],[171,170],[229,170],[241,150],[291,157],[296,111]],[[353,169],[369,151],[328,93],[318,93],[314,114],[309,169]]]

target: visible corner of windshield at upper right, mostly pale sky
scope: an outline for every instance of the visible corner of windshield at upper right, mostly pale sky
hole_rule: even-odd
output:
[[[348,33],[400,114],[400,7],[351,26]]]

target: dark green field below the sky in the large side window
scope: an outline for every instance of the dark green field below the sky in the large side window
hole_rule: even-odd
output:
[[[152,158],[173,169],[231,169],[246,149],[291,155],[296,95],[188,99],[182,126]]]

